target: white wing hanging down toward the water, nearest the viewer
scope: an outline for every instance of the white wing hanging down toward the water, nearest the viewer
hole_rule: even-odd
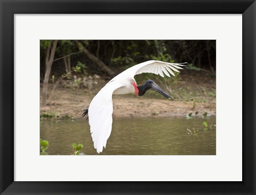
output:
[[[88,108],[89,124],[94,148],[100,153],[103,146],[106,148],[107,140],[112,129],[113,92],[122,87],[122,84],[109,83],[103,87],[92,99]]]

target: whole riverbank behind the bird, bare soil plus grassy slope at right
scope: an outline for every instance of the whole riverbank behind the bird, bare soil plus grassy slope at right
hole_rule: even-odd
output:
[[[174,96],[173,101],[162,97],[155,91],[149,91],[141,97],[132,94],[114,95],[113,116],[185,117],[189,113],[194,115],[196,112],[199,116],[205,112],[215,115],[215,80],[210,80],[209,77],[198,74],[193,76],[180,75],[178,83],[172,86],[171,91],[167,91],[171,96]],[[201,78],[198,80],[198,77]],[[40,114],[55,112],[61,116],[68,115],[76,119],[82,118],[83,108],[90,105],[92,98],[105,83],[104,80],[97,81],[91,89],[58,86],[50,96],[47,106],[41,104]],[[52,87],[52,84],[50,84],[49,91]]]

